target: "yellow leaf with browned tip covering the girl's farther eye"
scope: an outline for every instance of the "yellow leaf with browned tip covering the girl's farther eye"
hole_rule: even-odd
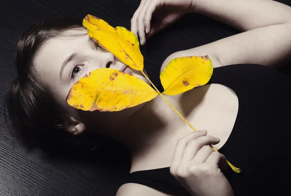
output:
[[[124,27],[113,28],[104,20],[92,15],[83,19],[88,35],[99,46],[113,53],[125,65],[143,70],[144,57],[139,48],[138,38]]]

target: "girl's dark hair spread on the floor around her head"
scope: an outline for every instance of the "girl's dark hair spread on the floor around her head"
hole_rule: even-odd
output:
[[[19,76],[12,82],[5,102],[14,129],[29,146],[49,150],[78,148],[86,137],[73,136],[65,129],[67,114],[39,80],[33,66],[35,54],[46,41],[69,29],[80,28],[84,28],[82,20],[76,18],[34,22],[16,44],[15,64]]]

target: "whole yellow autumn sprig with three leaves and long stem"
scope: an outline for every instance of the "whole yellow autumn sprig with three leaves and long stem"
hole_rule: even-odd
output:
[[[91,72],[73,85],[66,99],[71,106],[86,111],[120,111],[149,101],[160,94],[187,125],[196,131],[143,72],[144,59],[138,39],[132,32],[123,27],[113,28],[104,20],[91,15],[83,19],[83,26],[101,47],[112,52],[125,65],[140,70],[157,92],[138,78],[133,79],[129,74],[103,68]],[[182,65],[179,65],[180,63]],[[212,63],[208,56],[182,57],[171,61],[161,74],[164,93],[177,95],[195,86],[204,85],[210,80],[212,71]],[[227,163],[235,172],[241,172],[240,168],[234,167],[228,161]]]

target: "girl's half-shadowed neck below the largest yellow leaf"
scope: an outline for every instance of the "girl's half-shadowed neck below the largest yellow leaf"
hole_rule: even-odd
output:
[[[167,99],[174,102],[173,98]],[[131,156],[142,156],[149,150],[157,150],[172,141],[179,131],[172,122],[177,122],[178,118],[178,114],[162,97],[157,96],[129,117],[122,131],[114,133],[113,137],[128,147]]]

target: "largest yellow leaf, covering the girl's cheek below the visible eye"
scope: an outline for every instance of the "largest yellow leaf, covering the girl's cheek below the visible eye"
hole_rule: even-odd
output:
[[[70,89],[66,101],[84,111],[120,111],[155,98],[158,93],[136,76],[100,68],[85,75]]]

